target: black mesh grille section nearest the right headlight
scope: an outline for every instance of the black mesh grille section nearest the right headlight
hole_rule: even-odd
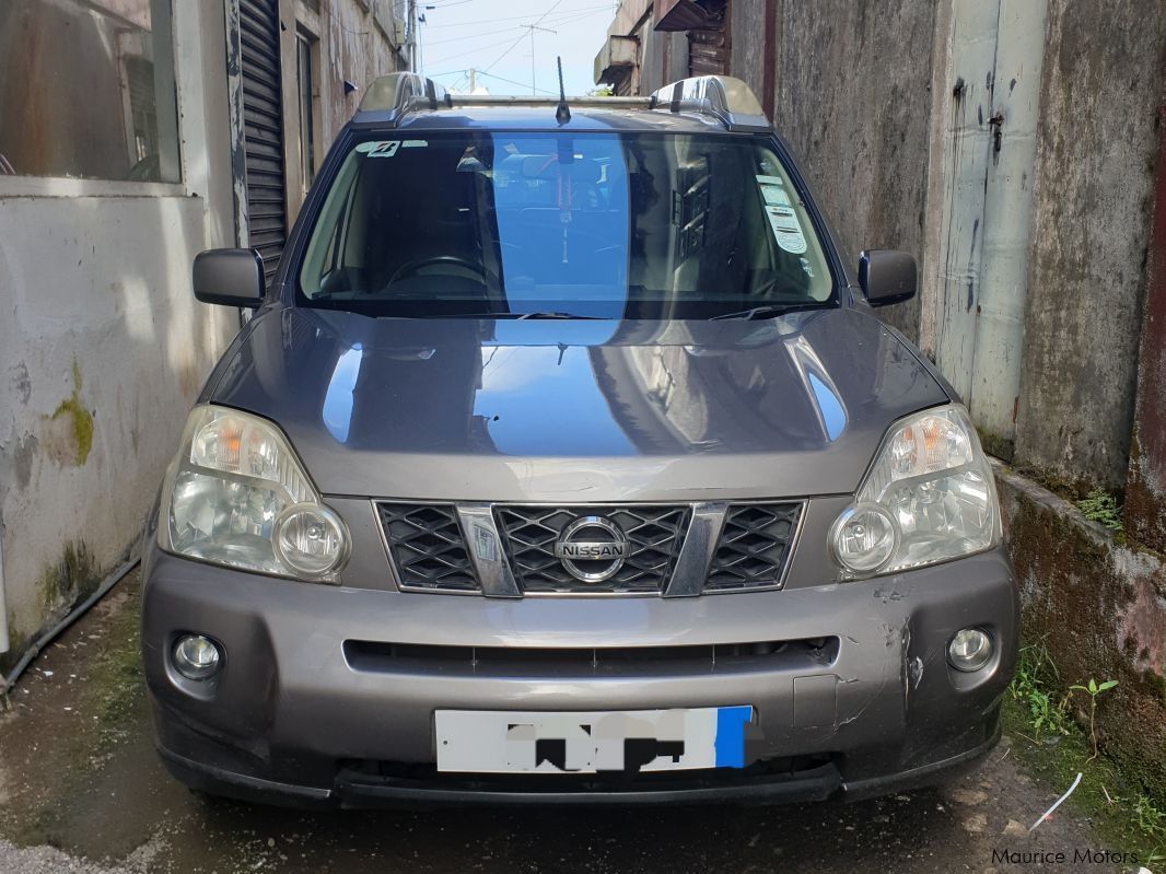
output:
[[[780,585],[801,509],[801,503],[730,506],[704,591]]]

